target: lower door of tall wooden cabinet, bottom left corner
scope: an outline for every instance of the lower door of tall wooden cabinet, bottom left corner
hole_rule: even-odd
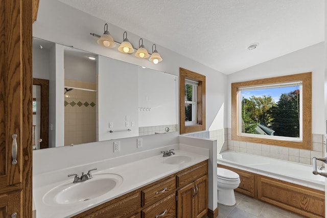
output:
[[[20,212],[20,198],[22,191],[0,194],[0,217],[22,217]]]

